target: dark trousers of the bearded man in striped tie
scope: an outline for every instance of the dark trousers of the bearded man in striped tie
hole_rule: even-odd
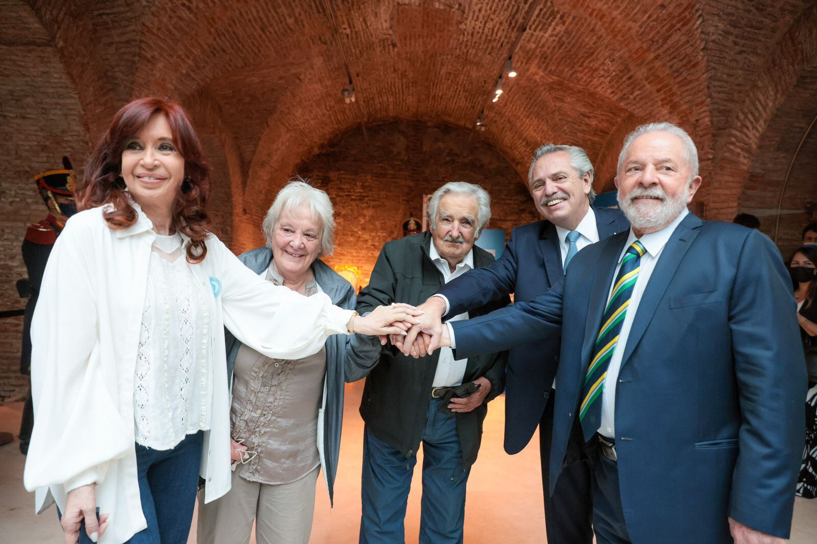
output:
[[[595,441],[596,438],[594,437]],[[630,544],[621,492],[618,486],[618,463],[596,453],[593,472],[593,528],[597,544]]]

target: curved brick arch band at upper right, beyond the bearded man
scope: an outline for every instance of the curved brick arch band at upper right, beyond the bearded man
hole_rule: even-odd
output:
[[[730,221],[738,211],[752,158],[766,127],[806,70],[817,65],[817,6],[792,23],[755,75],[715,154],[717,186],[708,194],[708,219]],[[811,109],[813,115],[814,109]],[[794,149],[790,150],[793,153]],[[780,181],[782,182],[782,180]]]

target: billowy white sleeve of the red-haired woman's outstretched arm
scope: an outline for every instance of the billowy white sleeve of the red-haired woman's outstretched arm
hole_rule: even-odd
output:
[[[332,334],[347,334],[352,310],[316,293],[304,297],[275,286],[249,270],[221,242],[221,304],[225,327],[239,341],[274,359],[302,359],[317,353]]]

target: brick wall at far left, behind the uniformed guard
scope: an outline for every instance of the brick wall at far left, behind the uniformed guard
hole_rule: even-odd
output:
[[[32,28],[22,45],[0,45],[0,310],[25,305],[15,287],[27,276],[20,244],[27,225],[47,214],[34,174],[61,168],[64,154],[79,167],[89,149],[74,86],[56,48]],[[19,368],[22,322],[0,320],[0,398],[24,382],[16,372],[4,372]]]

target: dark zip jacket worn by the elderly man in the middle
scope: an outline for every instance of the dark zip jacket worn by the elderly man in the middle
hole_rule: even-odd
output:
[[[431,261],[431,233],[426,231],[393,240],[383,246],[374,265],[368,286],[360,291],[357,311],[364,314],[378,305],[406,302],[420,305],[444,283],[443,274]],[[493,256],[474,246],[474,267],[493,262]],[[470,317],[487,314],[510,303],[508,297],[469,312]],[[366,377],[360,415],[368,430],[406,457],[417,453],[426,426],[431,382],[437,369],[440,350],[420,359],[406,356],[387,344],[380,362]],[[507,352],[469,358],[463,383],[485,377],[491,392],[485,402],[471,412],[457,414],[457,429],[462,447],[462,462],[468,467],[476,461],[482,439],[482,422],[488,401],[502,393],[505,386]]]

